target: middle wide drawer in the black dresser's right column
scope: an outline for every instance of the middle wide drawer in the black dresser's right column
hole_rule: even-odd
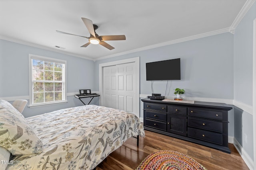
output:
[[[222,123],[188,117],[188,126],[222,132]]]

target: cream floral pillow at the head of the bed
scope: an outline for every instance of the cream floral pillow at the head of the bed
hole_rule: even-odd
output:
[[[43,146],[24,116],[5,100],[0,100],[0,146],[13,155],[39,154]]]

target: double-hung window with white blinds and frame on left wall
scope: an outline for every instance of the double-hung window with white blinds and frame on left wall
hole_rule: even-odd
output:
[[[66,61],[38,55],[30,60],[30,107],[66,102]]]

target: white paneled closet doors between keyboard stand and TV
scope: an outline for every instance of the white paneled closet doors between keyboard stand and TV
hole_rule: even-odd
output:
[[[135,63],[103,68],[103,106],[134,113]]]

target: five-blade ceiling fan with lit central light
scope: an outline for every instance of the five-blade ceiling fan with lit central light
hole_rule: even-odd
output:
[[[109,45],[108,43],[106,43],[105,41],[114,41],[114,40],[125,40],[126,37],[125,35],[102,35],[99,36],[95,30],[98,29],[98,26],[93,24],[91,20],[87,19],[87,18],[82,18],[86,28],[88,29],[89,33],[90,33],[90,37],[85,37],[85,36],[81,36],[81,35],[76,35],[79,37],[84,37],[87,38],[89,40],[88,43],[82,45],[81,47],[87,47],[89,44],[100,44],[104,47],[106,47],[109,50],[114,49],[114,47],[112,47],[111,45]],[[75,34],[71,34],[71,33],[65,33],[62,31],[58,31],[56,30],[57,33],[63,33],[63,34],[68,34],[68,35],[75,35]]]

